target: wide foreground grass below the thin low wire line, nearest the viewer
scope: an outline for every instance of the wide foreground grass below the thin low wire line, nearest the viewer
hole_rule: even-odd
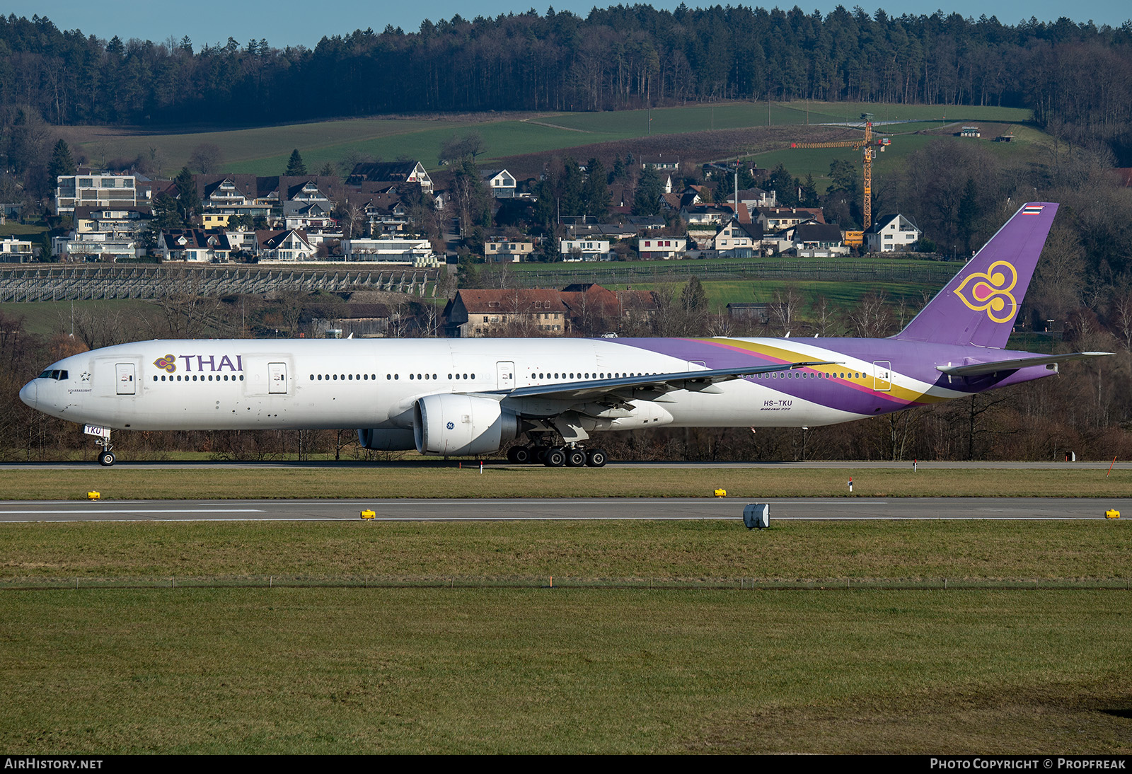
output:
[[[0,594],[34,752],[1127,754],[1108,592]]]

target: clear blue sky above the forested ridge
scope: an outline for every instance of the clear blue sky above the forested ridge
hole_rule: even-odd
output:
[[[629,0],[624,0],[629,2]],[[633,0],[636,1],[636,0]],[[541,0],[547,2],[547,0]],[[688,6],[715,5],[685,0]],[[544,14],[547,6],[555,10],[571,10],[584,16],[594,6],[607,5],[590,1],[566,0],[543,6],[533,6]],[[629,3],[632,5],[632,3]],[[679,0],[654,0],[654,8],[675,8]],[[719,5],[727,5],[720,2]],[[763,8],[792,8],[794,3],[734,2]],[[798,2],[807,14],[820,10],[829,14],[838,5],[850,10],[855,2],[838,3],[830,0],[821,2]],[[903,14],[932,14],[941,6],[938,0],[897,0],[889,3],[859,3],[869,14],[883,8],[891,16]],[[1031,16],[1041,22],[1055,20],[1069,16],[1074,22],[1092,19],[1098,25],[1108,24],[1117,27],[1132,18],[1132,9],[1126,0],[1095,0],[1086,3],[1086,9],[1074,5],[1054,0],[952,0],[943,10],[947,14],[959,12],[963,16],[978,18],[983,14],[997,16],[1004,24],[1017,24]],[[222,0],[195,0],[187,3],[164,3],[153,0],[110,0],[95,2],[93,0],[0,0],[0,9],[7,16],[32,17],[33,14],[46,16],[55,26],[62,29],[82,29],[87,35],[110,38],[114,35],[123,41],[130,37],[147,38],[160,43],[173,36],[180,40],[183,35],[192,38],[199,49],[204,43],[223,43],[229,36],[241,44],[248,38],[267,38],[274,46],[306,45],[314,48],[324,35],[344,35],[354,29],[372,27],[380,32],[385,25],[392,24],[405,32],[414,32],[424,18],[432,22],[452,18],[460,14],[464,18],[475,16],[497,16],[508,11],[521,12],[531,8],[530,0],[432,0],[428,3],[394,3],[372,2],[372,0],[336,0],[318,3],[309,0],[245,0],[229,2]]]

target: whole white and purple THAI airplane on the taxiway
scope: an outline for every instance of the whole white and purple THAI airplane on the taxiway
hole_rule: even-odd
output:
[[[1005,350],[1057,205],[1029,203],[889,338],[186,339],[65,358],[19,393],[111,430],[358,429],[361,446],[601,467],[599,432],[817,427],[962,398],[1106,352]]]

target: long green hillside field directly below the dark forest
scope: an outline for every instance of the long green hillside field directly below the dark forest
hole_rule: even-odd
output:
[[[808,109],[808,115],[807,115]],[[942,115],[935,105],[865,105],[857,103],[773,103],[771,126],[857,121],[871,111],[876,120],[923,118],[934,121]],[[955,111],[949,121],[1030,120],[1029,111],[1004,108],[949,108]],[[186,128],[151,134],[143,129],[114,127],[67,127],[63,137],[79,147],[95,163],[111,158],[148,156],[160,148],[163,171],[172,173],[188,163],[197,145],[214,144],[223,152],[222,166],[231,172],[280,174],[286,167],[292,148],[302,153],[309,170],[337,163],[351,153],[393,161],[415,158],[429,169],[439,169],[437,152],[453,135],[475,131],[483,138],[486,152],[480,163],[526,153],[541,153],[624,140],[650,135],[649,111],[595,113],[511,113],[454,117],[394,117],[343,119],[276,127],[207,130]],[[765,103],[721,103],[687,108],[661,108],[651,112],[652,135],[684,134],[715,129],[743,129],[767,126]],[[942,123],[942,122],[941,122]],[[912,126],[912,124],[909,124]],[[916,124],[919,126],[919,124]],[[932,126],[928,123],[927,126]],[[895,143],[894,143],[895,146]],[[825,174],[833,156],[824,155]],[[766,162],[760,157],[760,164]],[[801,169],[801,167],[799,167]],[[805,177],[792,166],[794,174]],[[816,175],[815,175],[816,177]]]

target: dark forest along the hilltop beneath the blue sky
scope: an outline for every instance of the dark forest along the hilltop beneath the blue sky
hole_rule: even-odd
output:
[[[66,27],[66,19],[59,19]],[[712,100],[1027,106],[1126,157],[1132,26],[715,6],[528,11],[324,37],[110,41],[0,18],[0,103],[61,123],[264,123],[388,112],[592,111]]]

